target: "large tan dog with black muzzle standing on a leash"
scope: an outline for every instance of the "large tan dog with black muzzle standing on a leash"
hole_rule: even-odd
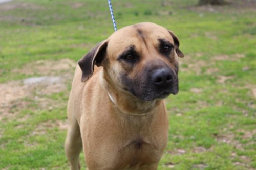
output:
[[[80,168],[82,148],[90,170],[157,169],[168,141],[163,98],[178,93],[178,56],[184,57],[173,32],[139,23],[78,62],[65,143],[71,169]]]

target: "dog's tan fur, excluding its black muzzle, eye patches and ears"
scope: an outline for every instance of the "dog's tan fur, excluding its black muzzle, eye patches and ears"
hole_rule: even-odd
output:
[[[146,44],[136,33],[137,27],[143,28]],[[157,60],[174,68],[178,62],[176,53],[170,63],[156,51],[156,39],[162,37],[174,43],[165,28],[153,23],[125,27],[106,40],[108,47],[103,67],[95,66],[89,80],[81,82],[82,72],[77,66],[68,102],[69,129],[65,143],[72,170],[79,169],[82,148],[90,170],[157,169],[168,141],[168,115],[164,101],[138,99],[123,90],[118,74],[127,72],[133,78],[145,64]],[[142,56],[133,70],[117,61],[131,43]]]

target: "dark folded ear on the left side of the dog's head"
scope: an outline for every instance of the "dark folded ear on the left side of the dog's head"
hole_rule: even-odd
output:
[[[78,61],[78,65],[82,70],[81,82],[87,81],[92,76],[94,65],[101,66],[101,62],[106,55],[107,46],[108,42],[106,40],[102,41]]]

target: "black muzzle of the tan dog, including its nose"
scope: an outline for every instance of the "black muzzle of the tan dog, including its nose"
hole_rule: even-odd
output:
[[[135,79],[123,78],[127,90],[143,101],[163,99],[178,93],[178,76],[169,67],[145,70]]]

